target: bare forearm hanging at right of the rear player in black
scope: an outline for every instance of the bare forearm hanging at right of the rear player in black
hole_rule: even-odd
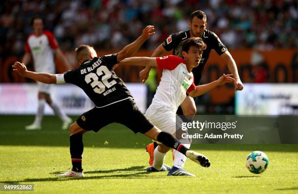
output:
[[[235,78],[234,82],[234,88],[235,90],[242,90],[243,89],[243,84],[242,81],[239,78],[238,70],[237,70],[237,65],[235,63],[235,60],[233,59],[231,53],[229,51],[225,51],[221,57],[223,60],[226,62],[230,72],[233,74],[233,77]]]

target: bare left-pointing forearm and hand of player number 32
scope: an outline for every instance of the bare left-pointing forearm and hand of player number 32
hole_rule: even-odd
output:
[[[19,75],[36,80],[43,83],[56,83],[56,75],[49,73],[36,73],[33,71],[28,71],[24,64],[16,62],[12,65],[13,71],[19,73]]]

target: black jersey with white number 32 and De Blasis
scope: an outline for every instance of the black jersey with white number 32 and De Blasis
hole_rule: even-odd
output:
[[[117,63],[117,54],[94,57],[77,69],[64,72],[64,80],[82,88],[97,107],[132,98],[125,83],[112,70]]]

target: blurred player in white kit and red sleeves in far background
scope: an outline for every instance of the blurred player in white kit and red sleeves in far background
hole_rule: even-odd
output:
[[[59,45],[52,32],[43,31],[44,21],[41,17],[33,17],[31,20],[33,33],[29,35],[25,47],[25,55],[22,63],[27,65],[33,56],[34,68],[36,72],[55,73],[54,53],[62,59],[65,65],[68,62],[59,49]],[[41,129],[41,121],[45,103],[47,102],[54,113],[62,120],[62,129],[68,129],[72,119],[68,117],[50,97],[50,84],[37,81],[38,107],[33,124],[26,126],[27,130]]]

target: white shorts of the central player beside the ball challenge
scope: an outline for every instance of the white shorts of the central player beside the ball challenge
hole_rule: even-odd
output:
[[[151,104],[145,115],[161,131],[174,134],[176,132],[176,114],[163,105]],[[179,118],[179,117],[177,117]],[[180,118],[179,118],[180,119]],[[181,125],[178,121],[177,124]],[[177,128],[178,129],[178,128]]]

